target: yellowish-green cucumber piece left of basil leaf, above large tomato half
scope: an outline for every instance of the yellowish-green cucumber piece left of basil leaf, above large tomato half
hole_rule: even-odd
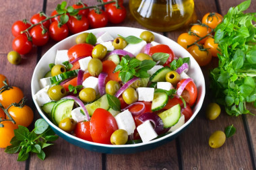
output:
[[[104,110],[108,110],[110,108],[110,106],[108,104],[108,99],[106,98],[106,95],[102,95],[102,97],[100,97],[100,99],[97,99],[93,103],[86,105],[86,109],[90,116],[92,116],[94,111],[98,108],[102,108]]]

